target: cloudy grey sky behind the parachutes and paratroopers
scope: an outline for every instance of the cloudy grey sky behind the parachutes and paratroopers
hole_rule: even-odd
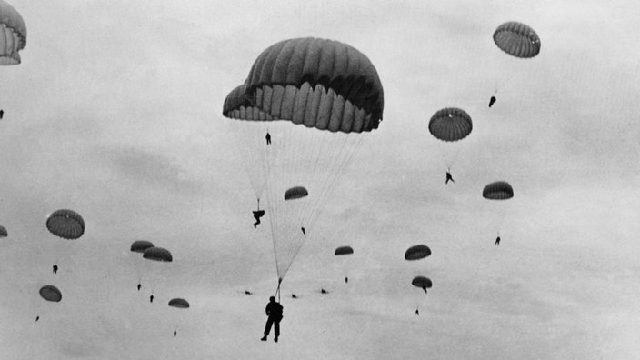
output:
[[[11,5],[28,36],[23,64],[0,67],[0,357],[640,356],[635,2]],[[538,56],[495,46],[511,20],[535,29]],[[369,57],[384,121],[286,275],[281,341],[262,343],[273,245],[266,217],[251,225],[222,105],[267,46],[303,36]],[[453,146],[427,130],[446,106],[474,121]],[[514,186],[504,206],[482,198],[495,180]],[[83,215],[83,237],[48,233],[59,208]],[[136,239],[174,262],[144,262]],[[405,262],[416,244],[433,254]],[[355,254],[336,260],[338,245]],[[418,274],[434,282],[426,296]],[[47,284],[62,302],[40,298]]]

